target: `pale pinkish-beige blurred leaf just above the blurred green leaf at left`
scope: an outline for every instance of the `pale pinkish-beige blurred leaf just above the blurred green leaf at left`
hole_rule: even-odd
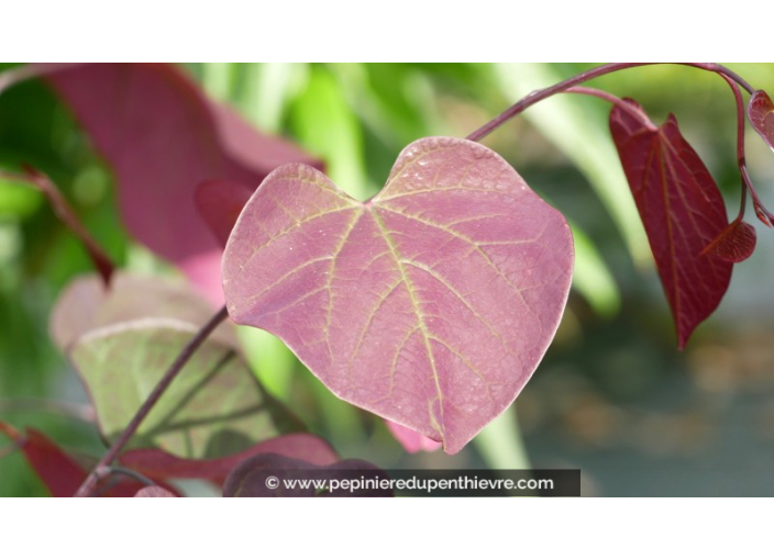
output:
[[[139,318],[175,318],[203,325],[213,315],[211,305],[183,282],[166,277],[117,272],[110,288],[97,275],[73,280],[62,292],[49,320],[51,336],[62,350],[97,328]],[[211,335],[239,347],[233,325],[224,323]]]

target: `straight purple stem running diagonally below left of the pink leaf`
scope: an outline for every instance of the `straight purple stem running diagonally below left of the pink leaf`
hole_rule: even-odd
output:
[[[172,366],[169,366],[167,372],[164,373],[162,380],[158,382],[158,384],[156,384],[153,392],[145,400],[145,402],[136,412],[132,421],[124,428],[121,436],[119,436],[119,438],[113,443],[113,445],[110,446],[108,452],[104,453],[102,459],[100,459],[93,470],[86,478],[84,483],[78,489],[78,492],[75,494],[76,497],[91,495],[97,485],[97,482],[100,479],[100,473],[104,472],[106,468],[110,468],[110,464],[118,458],[121,450],[132,438],[132,436],[137,430],[145,417],[148,415],[153,406],[156,404],[156,402],[158,402],[158,399],[161,399],[162,394],[164,394],[164,391],[166,391],[169,384],[180,372],[183,367],[188,362],[191,356],[194,356],[194,352],[196,352],[196,350],[207,339],[210,333],[212,333],[212,331],[214,331],[215,327],[220,325],[220,323],[222,323],[228,316],[229,312],[226,311],[224,305],[218,313],[212,316],[212,318],[210,318],[210,321],[207,322],[204,326],[199,329],[199,332],[194,336],[194,338],[190,339],[190,341],[186,345],[183,351],[180,351],[179,356],[175,359]]]

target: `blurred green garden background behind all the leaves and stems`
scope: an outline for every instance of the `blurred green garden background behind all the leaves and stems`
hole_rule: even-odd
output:
[[[340,187],[364,199],[413,139],[465,136],[531,90],[595,65],[184,66],[261,130],[320,156]],[[728,66],[774,91],[774,65]],[[722,79],[659,66],[591,85],[637,99],[655,122],[674,112],[736,213],[736,109]],[[678,352],[608,111],[596,99],[560,96],[484,139],[565,213],[577,264],[563,324],[532,381],[463,452],[407,455],[378,418],[332,396],[279,341],[243,331],[259,379],[343,457],[384,468],[580,468],[587,495],[774,495],[774,232],[754,223],[758,250],[737,265],[720,309]],[[110,169],[40,81],[0,94],[0,167],[21,161],[52,176],[122,267],[174,273],[118,225]],[[774,205],[774,155],[752,132],[748,161]],[[43,198],[0,179],[0,419],[100,455],[93,427],[74,417],[88,413],[82,387],[47,334],[57,293],[89,270]],[[45,495],[7,444],[0,439],[0,495]]]

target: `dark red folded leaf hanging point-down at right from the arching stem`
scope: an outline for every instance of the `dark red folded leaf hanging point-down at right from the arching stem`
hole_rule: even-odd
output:
[[[613,108],[610,131],[684,348],[731,280],[731,262],[703,254],[728,226],[726,206],[674,115],[655,126],[640,105],[627,102],[641,114]]]

